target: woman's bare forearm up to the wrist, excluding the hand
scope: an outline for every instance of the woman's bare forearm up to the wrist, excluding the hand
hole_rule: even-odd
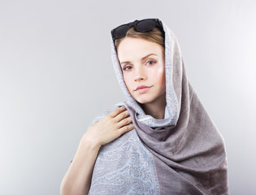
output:
[[[100,145],[84,136],[76,151],[72,164],[63,178],[60,194],[87,194],[91,183],[94,163]]]

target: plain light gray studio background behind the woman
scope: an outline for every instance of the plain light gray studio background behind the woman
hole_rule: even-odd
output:
[[[232,194],[256,191],[255,1],[0,1],[0,194],[59,194],[80,138],[123,101],[110,31],[159,18],[222,133]]]

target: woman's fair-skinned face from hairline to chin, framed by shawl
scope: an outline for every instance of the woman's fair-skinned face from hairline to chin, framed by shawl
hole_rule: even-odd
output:
[[[164,50],[157,43],[126,37],[118,50],[124,82],[141,104],[165,101]]]

